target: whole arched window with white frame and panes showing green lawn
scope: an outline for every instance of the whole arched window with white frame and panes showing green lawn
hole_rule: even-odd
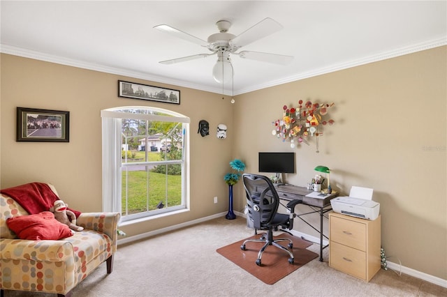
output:
[[[101,110],[103,211],[122,222],[188,207],[189,118],[156,107]]]

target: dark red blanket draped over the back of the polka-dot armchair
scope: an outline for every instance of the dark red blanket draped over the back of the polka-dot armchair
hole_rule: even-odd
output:
[[[54,194],[46,183],[17,185],[17,187],[0,190],[0,193],[13,198],[30,215],[50,211],[54,201],[59,200],[59,197]],[[68,209],[75,213],[76,218],[81,214],[80,211]]]

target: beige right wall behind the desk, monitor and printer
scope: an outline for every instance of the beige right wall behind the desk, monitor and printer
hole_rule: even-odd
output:
[[[288,183],[306,185],[325,165],[342,195],[373,188],[389,261],[446,280],[446,65],[438,47],[238,96],[235,155],[257,172],[258,151],[295,151]],[[299,99],[335,102],[320,153],[314,140],[292,149],[271,134],[283,105]]]

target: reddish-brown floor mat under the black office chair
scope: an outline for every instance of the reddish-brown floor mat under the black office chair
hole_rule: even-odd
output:
[[[274,236],[274,239],[291,239],[293,242],[293,264],[288,263],[289,255],[287,252],[280,250],[274,245],[268,245],[263,252],[261,266],[258,266],[256,265],[256,259],[258,259],[258,252],[261,250],[264,243],[248,242],[245,245],[246,249],[244,251],[242,251],[240,247],[246,239],[259,239],[260,237],[261,235],[258,234],[250,236],[249,238],[244,238],[241,241],[217,249],[217,252],[251,275],[258,277],[259,280],[262,280],[266,284],[274,284],[278,280],[281,280],[281,278],[286,277],[286,275],[293,273],[293,271],[318,257],[318,254],[306,250],[312,243],[303,241],[296,236],[283,233]],[[287,243],[288,241],[285,241],[282,245],[287,246]]]

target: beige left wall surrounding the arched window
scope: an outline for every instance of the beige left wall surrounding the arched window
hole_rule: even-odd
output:
[[[181,104],[119,98],[118,79],[179,89]],[[228,189],[223,176],[230,168],[235,137],[229,98],[8,54],[1,55],[1,188],[50,182],[72,208],[101,211],[100,111],[129,105],[171,109],[191,118],[191,211],[122,229],[133,236],[226,211]],[[70,142],[15,142],[16,107],[69,111]],[[206,137],[197,134],[201,119],[210,123]],[[217,139],[219,123],[228,126],[227,139]],[[219,197],[218,204],[214,196]]]

